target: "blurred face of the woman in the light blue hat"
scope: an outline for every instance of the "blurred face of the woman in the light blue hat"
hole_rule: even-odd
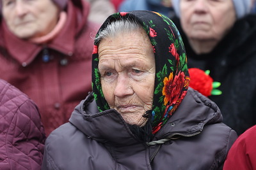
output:
[[[180,0],[180,22],[189,39],[220,41],[235,21],[232,0]]]

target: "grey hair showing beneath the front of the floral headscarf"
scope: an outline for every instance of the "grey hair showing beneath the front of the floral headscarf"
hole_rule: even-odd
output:
[[[99,44],[102,39],[115,37],[120,33],[138,31],[141,28],[142,26],[136,20],[116,20],[98,32],[95,43]]]

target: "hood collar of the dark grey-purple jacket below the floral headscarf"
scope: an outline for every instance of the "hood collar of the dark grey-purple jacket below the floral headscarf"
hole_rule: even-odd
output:
[[[174,114],[157,132],[154,140],[172,135],[189,137],[203,131],[205,124],[216,124],[222,120],[218,106],[190,88],[177,112],[179,113]],[[140,143],[118,112],[98,112],[92,94],[76,107],[69,121],[88,138],[101,143],[111,143],[115,146]]]

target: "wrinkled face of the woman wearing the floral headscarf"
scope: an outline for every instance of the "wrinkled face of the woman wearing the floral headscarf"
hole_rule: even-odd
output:
[[[102,91],[110,108],[127,124],[143,126],[142,115],[152,109],[156,66],[143,29],[106,38],[99,44]]]

